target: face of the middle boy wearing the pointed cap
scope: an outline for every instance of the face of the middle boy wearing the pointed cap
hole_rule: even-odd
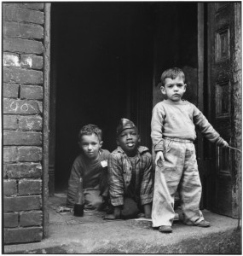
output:
[[[117,144],[124,150],[124,153],[129,156],[136,154],[136,148],[139,143],[140,137],[135,128],[125,129],[117,138]]]

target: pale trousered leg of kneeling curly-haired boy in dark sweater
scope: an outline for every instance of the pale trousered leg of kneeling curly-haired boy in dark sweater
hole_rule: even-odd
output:
[[[84,209],[100,211],[103,198],[98,189],[84,189]]]

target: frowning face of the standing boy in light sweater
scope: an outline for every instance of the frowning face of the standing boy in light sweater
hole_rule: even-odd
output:
[[[165,79],[165,86],[161,86],[162,94],[167,96],[168,100],[172,102],[180,102],[186,91],[187,84],[184,84],[182,76],[177,76],[176,79]]]

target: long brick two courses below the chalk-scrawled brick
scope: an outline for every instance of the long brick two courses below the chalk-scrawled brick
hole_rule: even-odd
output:
[[[42,133],[29,131],[3,131],[3,145],[41,145]]]

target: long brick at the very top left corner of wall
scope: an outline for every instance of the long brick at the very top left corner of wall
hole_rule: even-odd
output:
[[[43,24],[43,12],[6,6],[3,11],[3,20]]]

